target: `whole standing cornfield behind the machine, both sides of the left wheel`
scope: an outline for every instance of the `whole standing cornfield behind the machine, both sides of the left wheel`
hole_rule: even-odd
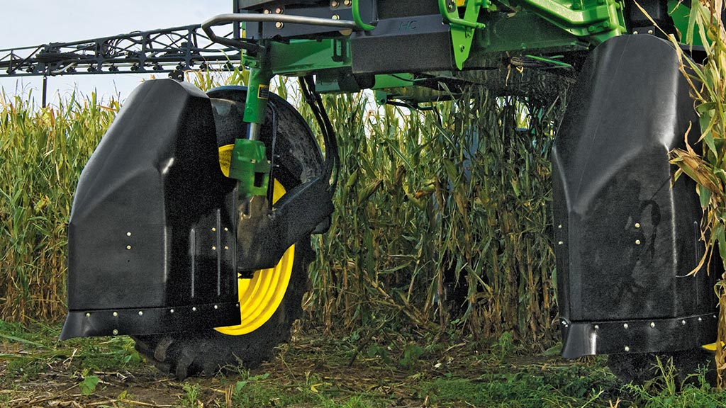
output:
[[[210,89],[245,73],[187,79]],[[315,130],[297,88],[276,85]],[[73,189],[118,104],[3,100],[0,239],[12,250],[1,258],[0,316],[54,319],[65,311]],[[330,231],[313,238],[308,321],[551,343],[549,152],[565,103],[561,90],[497,97],[476,86],[425,111],[378,106],[369,93],[326,97],[342,168]]]

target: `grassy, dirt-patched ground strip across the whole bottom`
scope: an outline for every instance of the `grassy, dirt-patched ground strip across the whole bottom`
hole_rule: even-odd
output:
[[[603,358],[566,361],[510,339],[436,343],[382,330],[365,338],[295,332],[272,362],[178,382],[139,361],[126,337],[56,340],[60,327],[0,322],[0,407],[722,407],[703,381],[622,385]],[[385,350],[386,352],[383,352]],[[412,352],[414,351],[415,352]],[[503,352],[503,350],[505,350]],[[667,370],[666,370],[667,372]],[[90,379],[90,380],[89,380]],[[670,378],[672,380],[672,378]],[[91,385],[85,388],[85,385]]]

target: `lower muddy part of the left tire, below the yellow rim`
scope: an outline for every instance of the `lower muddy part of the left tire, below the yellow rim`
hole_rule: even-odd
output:
[[[290,340],[290,327],[301,316],[312,250],[309,240],[295,245],[292,276],[285,297],[272,317],[247,335],[225,335],[213,329],[166,335],[139,335],[136,351],[160,371],[183,380],[191,375],[215,375],[219,370],[257,367]]]

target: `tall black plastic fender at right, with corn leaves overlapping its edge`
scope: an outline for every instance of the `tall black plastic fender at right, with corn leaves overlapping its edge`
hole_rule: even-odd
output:
[[[698,139],[673,46],[619,36],[587,58],[552,152],[563,356],[694,348],[716,339],[719,269],[669,152]]]

